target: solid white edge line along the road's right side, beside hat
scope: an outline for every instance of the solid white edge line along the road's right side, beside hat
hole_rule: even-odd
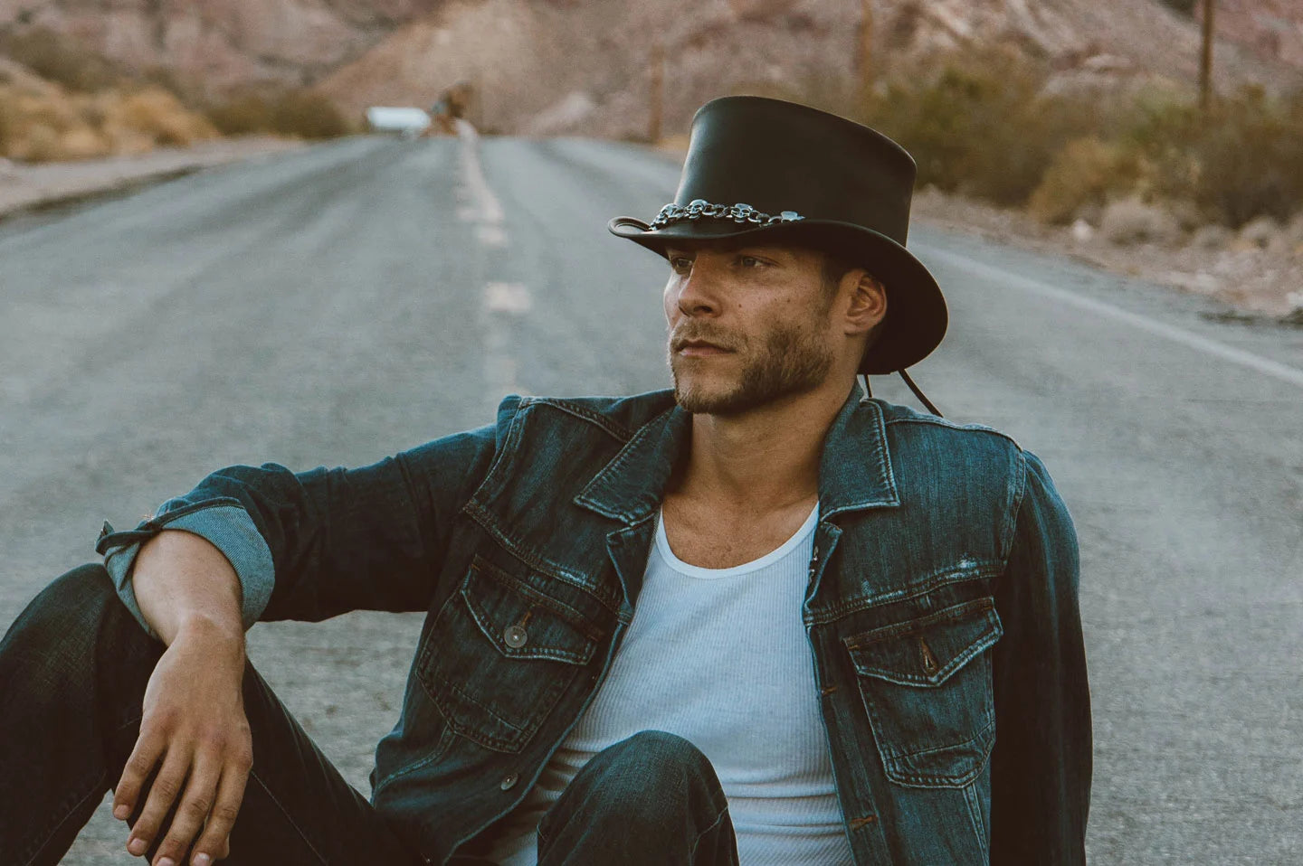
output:
[[[1141,331],[1148,331],[1149,333],[1171,340],[1173,342],[1179,342],[1190,346],[1191,349],[1199,349],[1200,352],[1231,361],[1251,370],[1280,379],[1281,382],[1287,382],[1289,384],[1303,388],[1303,370],[1299,370],[1298,367],[1291,367],[1289,365],[1280,363],[1278,361],[1272,361],[1270,358],[1253,354],[1252,352],[1244,352],[1243,349],[1229,346],[1225,342],[1210,340],[1191,331],[1186,331],[1184,328],[1158,322],[1157,319],[1151,319],[1149,316],[1139,313],[1123,310],[1122,307],[1105,303],[1104,301],[1096,301],[1095,298],[1088,298],[1040,280],[1012,273],[1011,271],[1006,271],[993,264],[986,264],[985,262],[979,262],[977,259],[954,253],[951,250],[942,250],[925,244],[920,244],[912,249],[921,250],[930,259],[941,259],[956,268],[962,268],[971,273],[980,273],[1005,285],[1012,285],[1023,289],[1024,292],[1050,297],[1065,303],[1071,303],[1083,310],[1089,310],[1091,313],[1096,313],[1118,322],[1124,322],[1135,328],[1140,328]]]

